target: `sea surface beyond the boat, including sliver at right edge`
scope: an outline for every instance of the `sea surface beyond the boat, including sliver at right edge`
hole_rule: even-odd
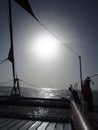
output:
[[[10,95],[11,87],[0,86],[0,96]],[[68,97],[70,92],[68,90],[54,90],[54,89],[35,89],[22,87],[21,95],[24,97],[40,97],[40,98],[60,98]],[[80,98],[80,91],[78,92]],[[94,106],[94,118],[98,121],[98,91],[93,91],[93,106]]]

